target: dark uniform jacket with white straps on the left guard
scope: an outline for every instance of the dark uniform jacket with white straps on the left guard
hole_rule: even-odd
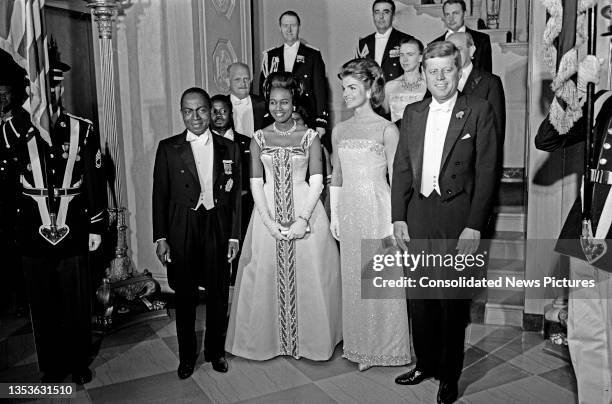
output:
[[[31,125],[10,145],[20,189],[17,242],[22,255],[87,254],[89,234],[106,226],[106,183],[100,140],[90,121],[64,112],[49,145]]]

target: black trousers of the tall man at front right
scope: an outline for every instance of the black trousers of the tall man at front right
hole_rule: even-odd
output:
[[[435,191],[429,197],[414,195],[408,205],[411,245],[414,240],[417,245],[429,244],[440,253],[455,253],[456,240],[465,228],[468,209],[467,194],[448,201],[443,201]],[[441,381],[457,382],[463,368],[470,300],[446,296],[410,299],[409,307],[416,367]]]

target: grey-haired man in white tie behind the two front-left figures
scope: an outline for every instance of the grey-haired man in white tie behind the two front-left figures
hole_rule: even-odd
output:
[[[227,67],[229,77],[229,99],[233,106],[234,129],[249,138],[255,131],[266,126],[266,102],[258,95],[251,94],[251,69],[244,63],[236,62]],[[270,123],[272,121],[271,118]],[[248,181],[246,181],[248,183]]]

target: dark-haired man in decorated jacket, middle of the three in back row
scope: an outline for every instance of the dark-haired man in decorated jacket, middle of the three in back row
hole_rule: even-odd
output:
[[[395,3],[393,0],[375,0],[372,4],[372,19],[376,32],[359,39],[357,56],[372,59],[385,74],[385,81],[400,77],[404,71],[399,62],[400,41],[410,38],[409,34],[393,28]]]

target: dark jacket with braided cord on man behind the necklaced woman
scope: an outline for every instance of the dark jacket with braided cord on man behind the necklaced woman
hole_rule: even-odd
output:
[[[285,71],[284,45],[268,49],[263,54],[261,75],[259,78],[259,94],[263,96],[263,84],[270,73]],[[308,126],[327,127],[327,80],[325,78],[325,63],[321,52],[300,42],[298,53],[293,63],[293,75],[302,82],[304,93],[302,105],[307,108],[311,117]],[[267,111],[266,111],[267,112]]]

